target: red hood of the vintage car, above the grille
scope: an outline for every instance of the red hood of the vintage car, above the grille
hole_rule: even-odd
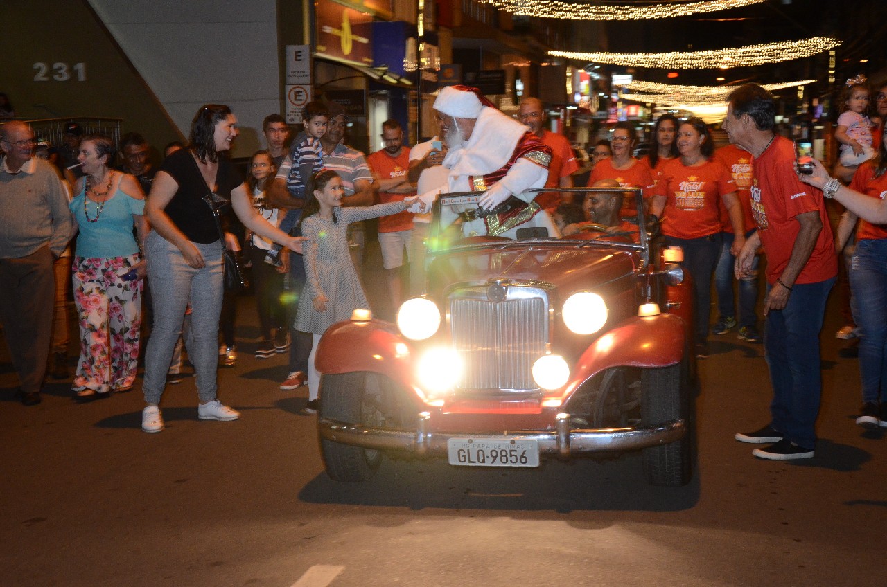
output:
[[[637,254],[625,248],[549,245],[471,247],[436,254],[428,268],[429,294],[493,279],[543,282],[561,290],[583,290],[633,274]]]

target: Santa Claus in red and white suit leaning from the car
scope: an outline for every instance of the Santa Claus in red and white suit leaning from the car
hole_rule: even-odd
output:
[[[477,207],[461,214],[465,236],[514,239],[518,229],[544,227],[559,237],[551,216],[533,201],[536,192],[525,193],[545,186],[551,149],[476,88],[447,86],[434,108],[449,146],[448,181],[422,194],[411,210],[428,209],[439,193],[483,192]]]

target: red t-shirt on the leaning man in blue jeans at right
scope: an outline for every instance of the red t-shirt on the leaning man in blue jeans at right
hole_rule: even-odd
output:
[[[767,281],[776,283],[789,264],[801,224],[795,216],[817,212],[822,230],[810,258],[795,283],[811,284],[837,275],[834,237],[828,223],[822,192],[804,184],[795,173],[795,145],[785,137],[774,137],[757,159],[751,181],[751,214],[767,254]]]

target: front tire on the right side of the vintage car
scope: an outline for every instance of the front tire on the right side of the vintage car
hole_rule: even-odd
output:
[[[679,487],[693,476],[694,427],[690,410],[686,362],[644,369],[641,373],[643,395],[640,416],[645,426],[683,419],[684,436],[675,442],[642,450],[644,474],[650,485]]]

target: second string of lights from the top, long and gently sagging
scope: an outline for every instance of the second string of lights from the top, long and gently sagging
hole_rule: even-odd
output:
[[[548,51],[548,55],[625,67],[729,69],[731,67],[752,67],[764,65],[765,63],[779,63],[780,61],[812,57],[822,51],[834,49],[839,44],[841,44],[840,39],[828,36],[814,36],[809,39],[801,39],[800,41],[762,43],[711,51],[671,51],[668,53]]]

